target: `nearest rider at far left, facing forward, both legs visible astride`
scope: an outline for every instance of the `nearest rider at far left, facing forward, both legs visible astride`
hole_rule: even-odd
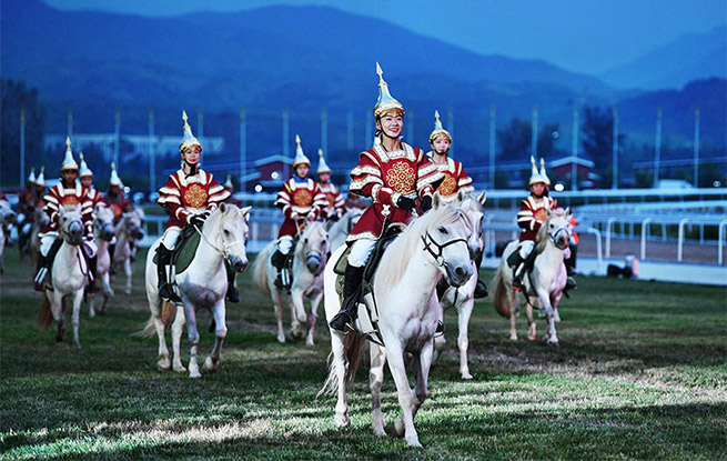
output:
[[[79,173],[79,166],[73,159],[71,151],[71,140],[65,138],[65,158],[61,164],[61,181],[50,188],[48,194],[43,198],[46,206],[43,210],[48,214],[50,222],[43,229],[40,237],[40,259],[38,260],[38,272],[34,280],[33,289],[36,291],[44,290],[46,274],[53,264],[55,253],[63,244],[63,239],[59,235],[59,211],[63,206],[80,206],[83,219],[85,235],[83,237],[83,251],[81,252],[89,268],[89,284],[87,291],[95,293],[99,285],[95,282],[95,253],[97,245],[93,241],[93,207],[88,196],[88,189],[75,182]]]

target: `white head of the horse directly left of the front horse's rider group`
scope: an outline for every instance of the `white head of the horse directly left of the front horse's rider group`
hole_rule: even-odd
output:
[[[222,255],[228,260],[230,265],[236,271],[245,270],[250,261],[248,260],[248,250],[245,248],[250,237],[250,210],[252,207],[238,208],[234,204],[220,203],[218,208],[204,223],[219,227],[219,241],[222,243]],[[219,216],[219,221],[215,219]]]

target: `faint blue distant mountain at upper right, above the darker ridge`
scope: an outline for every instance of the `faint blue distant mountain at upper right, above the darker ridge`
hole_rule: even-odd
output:
[[[681,88],[708,77],[727,78],[727,26],[681,36],[600,76],[615,87],[647,90]]]

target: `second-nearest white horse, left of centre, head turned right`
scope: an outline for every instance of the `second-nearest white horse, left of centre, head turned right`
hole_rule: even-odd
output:
[[[174,275],[182,298],[183,310],[176,309],[175,304],[162,301],[159,297],[156,264],[153,259],[161,238],[149,249],[147,254],[147,299],[151,317],[140,333],[152,337],[156,332],[159,337],[159,361],[156,365],[160,369],[166,370],[170,367],[164,329],[169,321],[174,318],[172,323],[173,369],[174,371],[185,371],[180,358],[180,339],[182,328],[186,321],[186,332],[190,340],[190,378],[201,377],[196,362],[196,349],[200,342],[200,334],[196,330],[196,311],[209,309],[214,320],[215,340],[212,352],[204,361],[204,370],[209,372],[216,371],[222,343],[228,334],[224,303],[228,275],[224,263],[226,260],[239,272],[248,267],[245,244],[249,238],[248,218],[250,209],[251,207],[240,209],[233,204],[221,203],[220,208],[214,210],[204,221],[201,230],[202,238],[194,259],[183,272]]]

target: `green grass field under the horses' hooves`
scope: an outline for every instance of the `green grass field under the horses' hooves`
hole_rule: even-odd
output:
[[[118,280],[104,317],[83,308],[78,350],[34,329],[39,293],[10,250],[0,277],[0,460],[727,459],[725,288],[582,277],[561,305],[559,348],[508,341],[507,321],[485,299],[471,323],[469,382],[460,380],[456,313],[447,312],[447,350],[415,419],[424,448],[407,449],[371,430],[365,363],[351,428],[333,427],[334,398],[316,399],[324,321],[314,348],[279,344],[271,302],[249,273],[244,301],[228,307],[218,373],[156,371],[156,340],[131,335],[149,317],[142,259],[131,297]],[[200,318],[204,358],[213,337]],[[525,338],[524,318],[518,330]],[[388,423],[400,413],[388,372],[383,399]]]

